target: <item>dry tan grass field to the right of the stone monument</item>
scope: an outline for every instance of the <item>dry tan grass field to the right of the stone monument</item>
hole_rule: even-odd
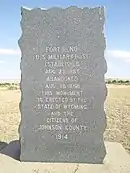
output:
[[[130,152],[130,85],[109,85],[105,107],[105,140],[119,142]]]

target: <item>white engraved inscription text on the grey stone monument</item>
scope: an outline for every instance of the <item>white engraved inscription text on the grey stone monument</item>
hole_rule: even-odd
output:
[[[36,98],[35,107],[38,110],[49,111],[49,117],[45,118],[39,130],[58,131],[59,134],[54,135],[58,140],[68,139],[69,134],[61,133],[63,131],[87,130],[87,126],[79,124],[75,118],[75,110],[88,109],[78,77],[82,67],[79,60],[88,57],[83,53],[78,54],[79,50],[77,46],[47,46],[45,53],[35,57],[36,60],[43,60],[45,67],[40,70],[46,76],[41,95]]]

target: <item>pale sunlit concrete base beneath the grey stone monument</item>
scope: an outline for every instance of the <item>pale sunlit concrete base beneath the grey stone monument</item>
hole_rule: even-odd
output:
[[[19,162],[0,154],[0,173],[130,173],[130,155],[121,144],[105,142],[104,164]]]

